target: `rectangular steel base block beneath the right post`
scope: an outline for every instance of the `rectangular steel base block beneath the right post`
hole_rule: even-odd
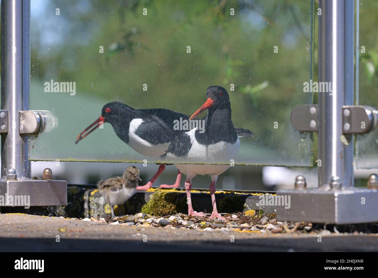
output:
[[[290,208],[277,207],[279,221],[308,221],[325,224],[378,222],[378,190],[285,189],[277,196],[290,196]]]

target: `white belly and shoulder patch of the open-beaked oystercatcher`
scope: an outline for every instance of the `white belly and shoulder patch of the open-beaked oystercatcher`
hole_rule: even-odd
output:
[[[130,122],[128,145],[136,152],[139,152],[139,154],[149,157],[160,157],[160,155],[163,155],[166,152],[170,143],[153,145],[140,138],[135,134],[135,131],[141,123],[143,123],[142,119],[133,119]]]

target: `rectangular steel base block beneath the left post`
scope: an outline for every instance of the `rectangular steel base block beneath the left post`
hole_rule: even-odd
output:
[[[67,205],[65,180],[0,180],[0,207]]]

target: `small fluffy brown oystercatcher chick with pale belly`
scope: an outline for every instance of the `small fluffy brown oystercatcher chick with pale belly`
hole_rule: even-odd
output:
[[[133,196],[139,180],[141,180],[139,169],[135,166],[130,166],[125,170],[122,177],[112,177],[97,183],[100,193],[110,205],[112,218],[115,217],[113,207],[123,204]],[[121,208],[118,209],[118,212],[119,216],[121,216]]]

